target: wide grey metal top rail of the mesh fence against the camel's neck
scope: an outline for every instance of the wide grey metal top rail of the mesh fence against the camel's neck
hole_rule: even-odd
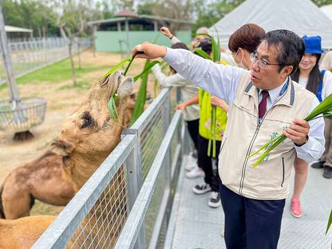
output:
[[[64,248],[66,246],[78,225],[100,198],[104,188],[128,158],[135,146],[136,138],[137,135],[124,137],[44,234],[39,237],[33,249]]]

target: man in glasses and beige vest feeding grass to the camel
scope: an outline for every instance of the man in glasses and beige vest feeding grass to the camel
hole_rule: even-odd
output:
[[[227,248],[277,248],[295,155],[311,163],[324,151],[324,120],[304,118],[319,101],[292,82],[304,42],[288,30],[273,30],[251,56],[251,71],[214,64],[186,50],[153,44],[133,49],[140,57],[163,59],[183,77],[230,104],[219,154],[221,203]],[[252,167],[261,145],[284,133],[286,139]]]

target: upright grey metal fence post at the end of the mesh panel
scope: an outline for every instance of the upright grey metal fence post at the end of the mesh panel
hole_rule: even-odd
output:
[[[142,187],[142,158],[140,153],[140,140],[138,139],[138,130],[127,129],[122,131],[122,135],[135,135],[135,146],[126,160],[127,167],[127,188],[128,188],[128,210],[130,212],[136,201],[140,187]],[[129,213],[128,212],[128,213]],[[136,249],[146,248],[144,223],[135,244]]]

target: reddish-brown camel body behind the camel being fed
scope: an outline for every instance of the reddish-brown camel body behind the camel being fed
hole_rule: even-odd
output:
[[[14,169],[0,189],[0,218],[29,216],[35,199],[51,205],[66,205],[75,192],[73,184],[63,175],[62,157],[51,151]]]

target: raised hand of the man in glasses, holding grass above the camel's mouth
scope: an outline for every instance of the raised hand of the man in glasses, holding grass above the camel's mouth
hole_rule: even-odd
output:
[[[149,42],[136,45],[133,48],[133,55],[136,55],[138,51],[144,52],[144,54],[138,54],[137,57],[145,59],[156,59],[158,57],[164,57],[167,53],[165,46],[158,46],[156,44],[150,44]]]

